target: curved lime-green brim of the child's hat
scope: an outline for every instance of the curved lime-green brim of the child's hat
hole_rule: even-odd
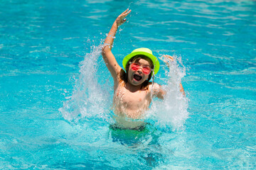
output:
[[[157,58],[154,55],[149,54],[148,52],[132,52],[131,54],[127,55],[124,57],[124,60],[122,62],[124,70],[125,67],[127,66],[127,63],[129,62],[129,60],[134,57],[135,55],[144,55],[146,57],[149,57],[149,59],[153,62],[154,64],[154,74],[156,74],[159,71],[160,68],[160,64],[159,64],[159,60],[157,60]]]

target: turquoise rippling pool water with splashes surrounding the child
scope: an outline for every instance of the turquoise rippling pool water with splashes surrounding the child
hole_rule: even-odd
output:
[[[143,132],[113,131],[100,45],[175,55]],[[255,169],[256,1],[1,1],[0,169]],[[176,92],[182,79],[186,97]],[[174,89],[174,90],[172,90]]]

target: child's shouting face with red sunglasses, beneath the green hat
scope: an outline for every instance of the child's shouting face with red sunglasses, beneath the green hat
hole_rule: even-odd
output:
[[[151,69],[151,64],[148,60],[144,60],[144,59],[139,59],[132,63],[137,64],[137,68],[139,65],[139,69],[136,70],[136,69],[132,68],[132,64],[129,65],[128,81],[130,84],[132,84],[134,86],[139,86],[146,79],[149,78],[149,74],[151,74],[151,70],[150,70],[149,74],[145,74],[145,73],[147,73],[147,72],[145,72],[146,71],[145,69],[146,69],[146,67],[149,67],[149,69]]]

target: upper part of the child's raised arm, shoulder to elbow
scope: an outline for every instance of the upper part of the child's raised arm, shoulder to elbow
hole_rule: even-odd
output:
[[[105,61],[107,69],[110,71],[114,81],[116,81],[117,79],[119,79],[119,74],[120,74],[122,68],[117,63],[117,60],[115,59],[111,50],[107,49],[108,47],[109,46],[105,46],[102,49],[102,57]]]

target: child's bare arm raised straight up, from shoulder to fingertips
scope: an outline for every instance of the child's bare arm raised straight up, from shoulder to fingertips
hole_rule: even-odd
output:
[[[125,18],[131,10],[127,9],[123,13],[121,13],[117,19],[114,21],[112,28],[110,29],[110,33],[108,33],[107,38],[104,42],[104,47],[102,48],[102,57],[106,63],[107,69],[110,71],[114,81],[117,81],[117,77],[119,72],[121,71],[121,67],[117,64],[117,60],[112,54],[112,45],[114,42],[114,36],[117,33],[117,28],[121,26],[127,19]]]

